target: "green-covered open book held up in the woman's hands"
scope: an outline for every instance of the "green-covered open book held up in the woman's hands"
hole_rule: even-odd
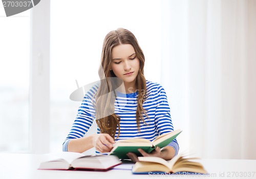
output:
[[[110,151],[109,155],[116,155],[119,159],[129,159],[126,153],[134,152],[137,156],[141,156],[138,148],[143,149],[145,152],[152,152],[157,146],[162,148],[172,142],[179,134],[181,130],[174,130],[168,133],[164,133],[158,136],[155,140],[150,141],[142,138],[125,139],[117,141],[113,145],[113,149]]]

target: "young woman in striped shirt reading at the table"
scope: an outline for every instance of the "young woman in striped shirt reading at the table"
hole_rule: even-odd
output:
[[[101,83],[84,96],[63,151],[84,152],[95,147],[96,152],[109,152],[115,141],[134,137],[152,141],[174,130],[165,91],[145,79],[144,61],[133,33],[119,28],[106,35],[99,69]],[[97,133],[83,137],[95,119]],[[176,139],[151,153],[139,149],[143,156],[165,160],[172,159],[178,150]],[[138,159],[131,152],[127,156],[134,162]]]

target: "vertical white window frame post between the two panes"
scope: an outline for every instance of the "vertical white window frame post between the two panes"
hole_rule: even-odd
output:
[[[50,0],[31,9],[30,152],[50,151]]]

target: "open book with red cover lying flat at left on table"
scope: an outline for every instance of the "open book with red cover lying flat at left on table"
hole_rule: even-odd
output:
[[[69,170],[108,170],[122,162],[117,156],[112,155],[84,155],[76,152],[62,152],[54,155],[46,155],[46,161],[42,162],[38,169]]]

